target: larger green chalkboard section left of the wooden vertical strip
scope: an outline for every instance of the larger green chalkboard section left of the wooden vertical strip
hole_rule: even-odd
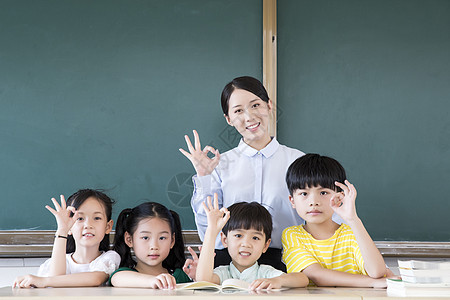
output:
[[[178,148],[237,144],[220,93],[262,77],[261,0],[2,0],[0,45],[0,229],[54,229],[50,198],[87,187],[195,229]]]

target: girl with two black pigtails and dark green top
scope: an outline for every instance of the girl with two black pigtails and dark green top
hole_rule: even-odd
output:
[[[162,204],[124,209],[117,219],[114,250],[121,263],[111,275],[113,286],[173,289],[191,281],[182,270],[186,258],[180,218]]]

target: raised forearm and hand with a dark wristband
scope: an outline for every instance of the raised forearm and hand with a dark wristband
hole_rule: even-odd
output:
[[[52,198],[55,208],[46,205],[47,208],[56,218],[58,229],[55,232],[55,240],[53,243],[52,256],[48,270],[48,276],[57,276],[66,274],[66,245],[67,237],[70,229],[77,218],[77,212],[72,206],[66,206],[66,200],[63,195],[60,196],[61,205]],[[71,217],[70,214],[73,213]]]

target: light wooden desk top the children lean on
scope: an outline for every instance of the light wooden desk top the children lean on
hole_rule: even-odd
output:
[[[194,298],[195,297],[195,298]],[[191,298],[196,300],[230,300],[230,297],[236,300],[249,300],[252,297],[263,297],[265,300],[275,300],[281,297],[295,299],[315,299],[315,300],[330,300],[330,299],[359,299],[359,300],[386,300],[386,299],[401,299],[401,297],[388,297],[385,289],[363,289],[363,288],[307,288],[307,289],[290,289],[282,292],[261,293],[258,295],[249,293],[214,293],[206,291],[192,291],[192,290],[152,290],[152,289],[136,289],[136,288],[112,288],[112,287],[97,287],[97,288],[46,288],[46,289],[12,289],[5,287],[0,289],[0,299],[77,299],[83,300],[107,300],[107,299],[164,299],[164,300],[182,300],[183,298]],[[431,299],[430,297],[409,297],[408,299]],[[446,299],[448,297],[439,297],[433,299]],[[189,299],[183,299],[189,300]]]

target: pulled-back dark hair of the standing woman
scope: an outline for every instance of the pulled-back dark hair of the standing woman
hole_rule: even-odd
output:
[[[222,91],[220,102],[222,104],[223,113],[226,116],[228,116],[228,104],[230,102],[230,97],[235,89],[246,90],[252,94],[255,94],[264,102],[269,102],[269,95],[267,94],[267,91],[261,81],[250,76],[237,77],[229,82]]]

